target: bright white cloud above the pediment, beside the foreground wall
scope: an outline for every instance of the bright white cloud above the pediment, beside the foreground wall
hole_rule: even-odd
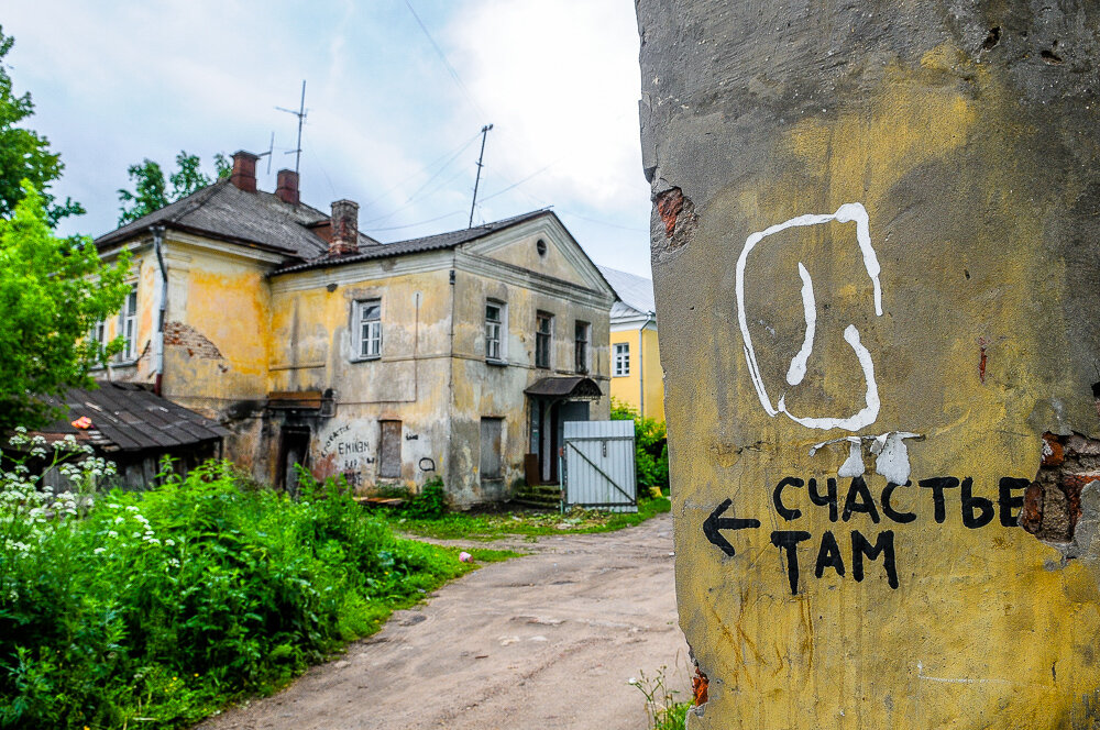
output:
[[[475,0],[447,41],[495,124],[487,169],[517,182],[549,165],[522,186],[543,199],[625,208],[645,195],[630,3]]]

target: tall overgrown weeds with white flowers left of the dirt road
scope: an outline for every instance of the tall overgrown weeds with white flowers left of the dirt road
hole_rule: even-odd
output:
[[[35,524],[0,541],[2,728],[191,725],[475,567],[395,538],[331,482],[293,500],[239,489],[223,463]]]

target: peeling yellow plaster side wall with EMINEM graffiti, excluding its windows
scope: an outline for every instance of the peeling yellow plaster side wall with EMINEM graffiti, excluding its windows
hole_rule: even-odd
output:
[[[394,262],[384,261],[273,281],[272,390],[334,391],[334,418],[288,420],[311,427],[317,476],[342,474],[356,487],[380,480],[418,485],[433,474],[447,478],[451,294],[443,258],[405,257],[402,264],[442,267],[404,275],[389,274]],[[352,305],[366,299],[382,301],[377,360],[360,360],[351,339]],[[382,420],[402,421],[396,479],[378,476]]]

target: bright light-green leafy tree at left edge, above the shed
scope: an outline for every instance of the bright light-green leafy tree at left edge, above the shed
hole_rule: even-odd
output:
[[[123,254],[99,259],[87,236],[57,237],[45,196],[28,180],[8,219],[0,219],[0,428],[30,428],[57,413],[38,396],[90,387],[89,370],[122,349],[88,333],[116,314],[129,291]]]

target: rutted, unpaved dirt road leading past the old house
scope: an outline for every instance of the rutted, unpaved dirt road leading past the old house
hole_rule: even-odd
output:
[[[394,615],[345,657],[201,730],[642,730],[639,671],[690,697],[676,626],[672,518],[521,543]]]

